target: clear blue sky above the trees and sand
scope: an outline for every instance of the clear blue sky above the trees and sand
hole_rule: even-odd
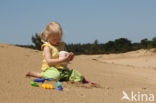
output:
[[[0,0],[0,42],[32,44],[58,21],[66,43],[156,37],[156,0]]]

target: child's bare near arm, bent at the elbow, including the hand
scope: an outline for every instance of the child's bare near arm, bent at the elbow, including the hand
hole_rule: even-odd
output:
[[[71,58],[71,55],[68,55],[67,57],[62,58],[62,59],[52,59],[51,49],[48,46],[44,47],[43,52],[44,52],[44,55],[45,55],[45,60],[47,61],[47,63],[49,65],[59,64],[59,63],[62,63],[62,62],[68,62],[68,61],[70,61],[70,58]]]

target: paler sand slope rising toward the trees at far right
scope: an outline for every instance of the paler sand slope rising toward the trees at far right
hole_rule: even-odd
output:
[[[93,59],[99,62],[156,69],[156,49],[142,49],[122,54],[99,55],[93,56]]]

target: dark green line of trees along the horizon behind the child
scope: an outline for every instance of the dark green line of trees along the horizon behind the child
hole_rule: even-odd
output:
[[[35,33],[32,36],[33,45],[17,45],[21,47],[33,48],[41,50],[42,42],[40,36]],[[99,43],[95,40],[94,43],[86,44],[66,44],[66,48],[69,52],[74,52],[75,54],[109,54],[109,53],[124,53],[128,51],[138,50],[138,49],[151,49],[156,48],[156,37],[152,40],[147,38],[140,41],[140,43],[131,43],[127,38],[119,38],[114,41],[108,41],[107,43]]]

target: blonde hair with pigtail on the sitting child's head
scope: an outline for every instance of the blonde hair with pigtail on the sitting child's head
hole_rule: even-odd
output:
[[[45,43],[49,37],[59,36],[62,37],[63,32],[61,25],[58,22],[49,23],[43,32],[40,34],[41,41]]]

